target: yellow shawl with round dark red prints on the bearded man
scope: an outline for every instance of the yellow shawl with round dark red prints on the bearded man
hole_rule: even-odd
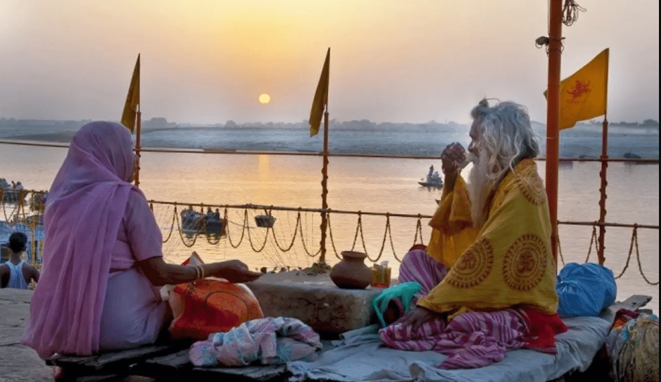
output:
[[[522,160],[498,184],[479,231],[472,227],[461,177],[454,191],[444,192],[429,225],[427,252],[450,271],[418,305],[452,312],[450,319],[515,305],[557,311],[549,204],[532,159]]]

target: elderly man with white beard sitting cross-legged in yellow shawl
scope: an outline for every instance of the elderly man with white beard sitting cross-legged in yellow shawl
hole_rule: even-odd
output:
[[[441,156],[445,186],[429,246],[400,265],[400,283],[422,289],[411,302],[390,300],[387,313],[400,318],[379,333],[393,348],[447,355],[440,368],[485,366],[522,347],[555,353],[555,335],[566,331],[527,110],[483,99],[471,116],[468,154],[453,143]],[[459,172],[469,161],[466,184]]]

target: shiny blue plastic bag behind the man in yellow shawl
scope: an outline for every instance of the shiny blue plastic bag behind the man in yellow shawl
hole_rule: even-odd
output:
[[[595,263],[568,263],[557,275],[557,314],[596,317],[615,302],[613,271]]]

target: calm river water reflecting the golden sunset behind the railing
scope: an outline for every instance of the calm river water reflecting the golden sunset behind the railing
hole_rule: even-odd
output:
[[[658,135],[656,145],[658,147]],[[0,177],[9,181],[21,180],[26,189],[47,190],[66,151],[56,147],[0,145],[0,163],[3,164]],[[440,169],[441,163],[440,160],[332,157],[328,167],[328,206],[342,211],[431,215],[441,191],[422,188],[417,183],[430,165]],[[150,200],[180,204],[321,207],[322,158],[317,156],[145,152],[141,167],[141,189]],[[544,178],[543,161],[538,162],[538,169]],[[560,166],[558,219],[561,222],[592,222],[599,218],[599,169],[599,163]],[[610,163],[606,207],[608,222],[658,226],[659,166]],[[177,208],[180,211],[182,206]],[[241,239],[246,211],[248,228],[243,241],[234,248]],[[224,213],[222,208],[221,213]],[[320,248],[319,213],[300,213],[297,237],[287,252],[279,250],[278,246],[287,249],[291,243],[299,213],[270,211],[276,217],[272,231],[259,228],[254,222],[254,215],[265,213],[263,209],[228,208],[229,235],[219,239],[200,236],[193,243],[195,237],[180,234],[176,224],[171,230],[173,207],[154,204],[154,215],[164,238],[168,238],[163,253],[169,261],[183,261],[193,250],[207,262],[239,258],[252,268],[306,267],[318,260],[318,256],[310,254],[314,255]],[[389,261],[393,276],[396,276],[396,258],[401,258],[416,241],[417,219],[392,217],[391,235],[387,235],[385,245],[385,217],[363,215],[362,233],[356,235],[357,219],[357,215],[331,214],[333,238],[327,239],[326,261],[331,265],[336,263],[335,250],[351,249],[356,238],[355,249],[366,250],[373,260],[382,246],[385,247],[378,262]],[[421,221],[424,243],[430,234],[427,220]],[[272,232],[269,235],[275,235],[277,240],[272,236],[265,240],[267,232]],[[586,261],[591,235],[592,227],[589,226],[560,225],[564,262]],[[625,268],[631,244],[632,228],[607,228],[605,265],[616,276]],[[638,246],[633,246],[629,265],[618,278],[619,300],[632,294],[651,295],[653,300],[649,307],[658,312],[658,285],[649,285],[640,272],[642,270],[649,281],[658,282],[658,248],[657,229],[638,230]],[[636,250],[640,254],[640,267]],[[597,261],[594,243],[589,261]],[[562,267],[562,261],[559,267]]]

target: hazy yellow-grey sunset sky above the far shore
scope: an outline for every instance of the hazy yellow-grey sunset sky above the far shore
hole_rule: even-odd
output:
[[[610,47],[608,119],[659,119],[658,0],[577,0],[562,77]],[[330,47],[330,118],[469,120],[482,97],[546,120],[545,0],[0,0],[0,117],[302,121]],[[262,105],[258,97],[271,96]]]

